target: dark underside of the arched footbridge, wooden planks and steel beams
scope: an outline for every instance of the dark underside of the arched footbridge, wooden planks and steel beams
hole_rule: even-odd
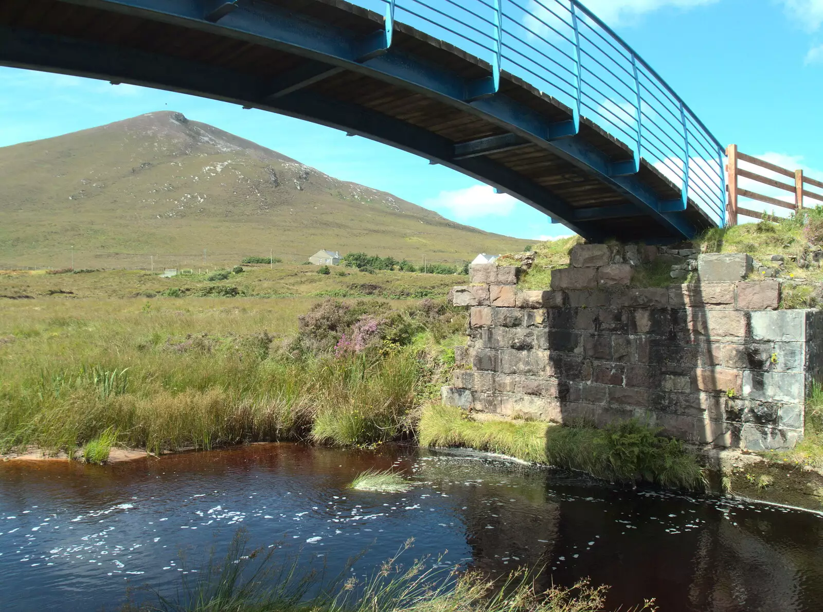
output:
[[[388,44],[387,38],[390,38]],[[572,109],[340,0],[3,0],[0,64],[165,90],[337,127],[528,202],[588,239],[671,242],[713,222]],[[628,168],[628,170],[626,169]],[[637,170],[635,172],[635,170]]]

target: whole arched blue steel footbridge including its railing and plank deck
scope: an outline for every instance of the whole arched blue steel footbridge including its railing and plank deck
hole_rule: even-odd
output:
[[[726,221],[723,146],[577,0],[0,0],[0,64],[336,127],[587,239]]]

